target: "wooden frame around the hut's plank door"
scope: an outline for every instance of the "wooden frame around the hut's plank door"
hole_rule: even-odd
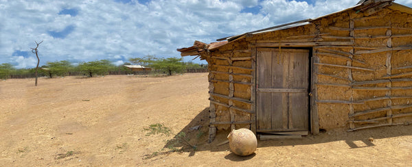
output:
[[[258,133],[258,116],[257,116],[257,111],[258,108],[256,106],[258,102],[258,97],[257,97],[257,92],[258,92],[258,49],[260,48],[266,48],[266,49],[279,49],[277,47],[255,47],[255,60],[253,61],[253,67],[254,67],[254,73],[253,75],[255,76],[253,78],[253,110],[255,111],[254,114],[254,126],[252,127],[252,131],[255,133]],[[319,57],[317,57],[313,53],[313,48],[312,47],[284,47],[282,49],[306,49],[309,51],[308,54],[308,131],[310,131],[313,134],[319,133],[319,115],[317,111],[317,104],[316,104],[316,98],[317,98],[317,88],[316,88],[316,83],[317,83],[317,71],[318,71],[318,66],[314,66],[314,63],[319,62]],[[281,51],[282,51],[281,49]]]

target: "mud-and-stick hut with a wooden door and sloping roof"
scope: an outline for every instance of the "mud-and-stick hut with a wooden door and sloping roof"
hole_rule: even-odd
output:
[[[209,142],[412,121],[412,9],[390,0],[177,49],[209,64]],[[283,136],[287,137],[287,136]]]

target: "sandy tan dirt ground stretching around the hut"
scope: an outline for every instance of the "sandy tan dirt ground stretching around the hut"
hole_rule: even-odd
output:
[[[0,80],[0,166],[412,165],[412,125],[258,141],[238,157],[216,146],[227,131],[207,143],[207,88],[207,73]],[[197,149],[163,149],[174,136],[146,136],[156,123]]]

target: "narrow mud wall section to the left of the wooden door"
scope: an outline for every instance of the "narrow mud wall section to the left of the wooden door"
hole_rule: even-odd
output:
[[[251,77],[244,75],[252,74],[253,70],[243,69],[251,68],[252,61],[249,60],[230,60],[231,57],[251,57],[251,53],[247,50],[248,43],[246,40],[238,40],[236,42],[231,42],[225,46],[220,47],[217,50],[211,51],[210,55],[207,55],[207,62],[209,63],[209,70],[216,71],[217,73],[211,72],[209,74],[209,82],[213,84],[213,90],[209,90],[214,94],[220,94],[225,97],[218,97],[211,95],[214,101],[222,103],[226,106],[211,104],[215,106],[215,113],[217,123],[228,123],[231,122],[231,114],[233,114],[233,122],[248,121],[251,120],[251,114],[248,112],[238,111],[236,109],[229,109],[229,105],[237,107],[243,110],[251,110],[251,104],[244,103],[242,101],[230,100],[230,96],[235,98],[250,100],[251,99]],[[229,61],[230,60],[230,61]],[[235,68],[231,68],[231,66]],[[239,68],[236,68],[239,67]],[[243,74],[243,75],[242,75]],[[232,78],[232,82],[230,80]],[[235,83],[236,82],[236,83]],[[237,84],[239,83],[239,84]],[[241,84],[245,83],[245,84]],[[233,86],[233,94],[231,95],[231,85]],[[231,112],[232,110],[232,112]],[[229,124],[219,124],[215,125],[218,130],[230,129]],[[236,124],[235,128],[250,128],[248,124]]]

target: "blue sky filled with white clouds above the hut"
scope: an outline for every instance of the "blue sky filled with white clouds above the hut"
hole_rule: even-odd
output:
[[[412,7],[412,0],[396,0]],[[358,0],[0,0],[0,64],[180,57],[177,48],[316,18]],[[194,57],[185,57],[190,61]],[[207,62],[193,60],[196,63]]]

